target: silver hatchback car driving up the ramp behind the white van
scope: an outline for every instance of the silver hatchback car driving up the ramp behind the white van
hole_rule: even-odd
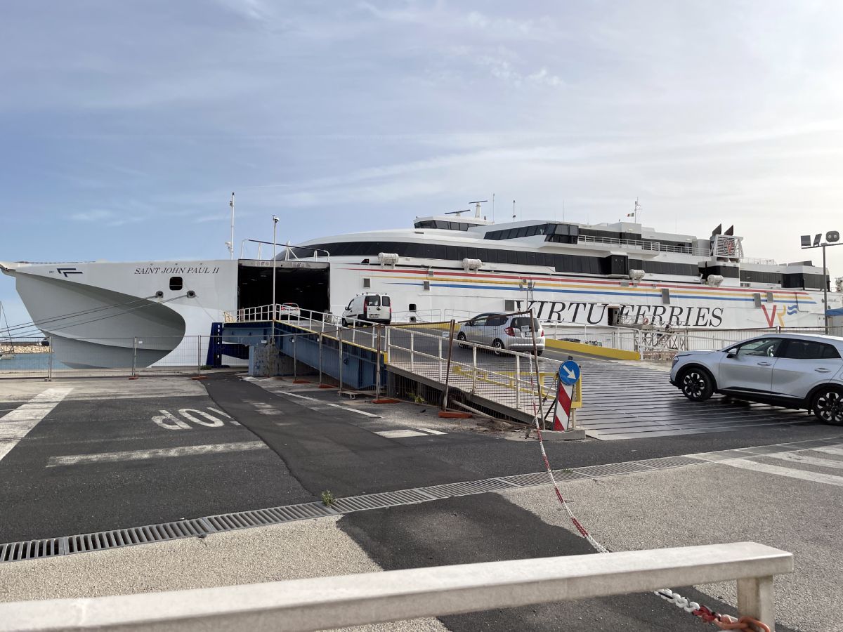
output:
[[[530,326],[529,316],[513,313],[481,313],[459,327],[457,340],[460,347],[468,342],[494,347],[498,350],[533,351],[533,331],[535,349],[538,355],[545,352],[545,329],[539,319],[533,319]]]

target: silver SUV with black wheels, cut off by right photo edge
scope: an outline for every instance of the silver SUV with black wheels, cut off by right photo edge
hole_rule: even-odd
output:
[[[806,409],[843,425],[843,338],[768,334],[720,351],[685,351],[674,357],[670,383],[692,401],[714,393]]]

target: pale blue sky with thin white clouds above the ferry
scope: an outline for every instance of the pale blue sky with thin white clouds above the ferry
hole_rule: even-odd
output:
[[[0,0],[0,260],[631,212],[843,233],[843,3]],[[485,206],[491,216],[491,203]],[[255,256],[246,249],[246,256]],[[843,248],[829,249],[843,276]],[[29,320],[0,275],[9,322]]]

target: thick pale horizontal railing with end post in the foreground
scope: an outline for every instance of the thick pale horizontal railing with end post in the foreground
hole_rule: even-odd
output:
[[[341,628],[738,581],[738,614],[775,630],[773,577],[793,556],[741,542],[433,566],[175,592],[0,604],[0,630]]]

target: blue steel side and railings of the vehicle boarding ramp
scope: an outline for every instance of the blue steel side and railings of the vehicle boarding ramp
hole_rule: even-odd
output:
[[[561,362],[461,343],[454,321],[386,326],[346,319],[350,326],[343,326],[334,314],[290,312],[278,305],[241,309],[226,320],[225,340],[254,336],[293,358],[294,366],[309,367],[319,383],[336,380],[341,388],[480,409],[524,422],[545,417],[556,394]],[[575,407],[581,405],[579,394]]]

